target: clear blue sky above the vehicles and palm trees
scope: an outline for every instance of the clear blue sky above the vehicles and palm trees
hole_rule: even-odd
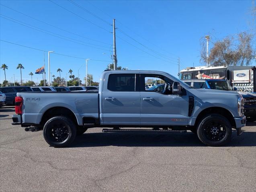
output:
[[[255,21],[252,23],[253,16],[250,12],[252,6],[255,6],[255,1],[251,0],[74,0],[76,4],[86,10],[82,10],[69,1],[52,1],[76,15],[48,0],[1,0],[1,4],[4,5],[0,7],[1,16],[9,20],[0,18],[0,39],[39,50],[91,58],[93,60],[88,62],[88,73],[93,74],[96,81],[99,80],[101,72],[111,61],[111,45],[113,44],[111,32],[113,27],[110,24],[113,18],[116,19],[116,27],[118,28],[116,30],[118,65],[128,67],[131,70],[163,70],[175,76],[178,73],[178,57],[180,57],[180,69],[193,66],[193,63],[195,66],[201,65],[199,62],[200,39],[203,36],[210,34],[214,40],[215,37],[221,39],[242,31],[252,32],[254,30],[255,33]],[[102,18],[103,21],[87,11]],[[16,22],[20,21],[23,24],[35,26],[37,30],[10,21],[12,19],[15,19]],[[51,35],[38,31],[38,28],[47,30],[48,32],[44,32]],[[209,46],[211,48],[212,45]],[[43,51],[39,50],[1,41],[0,64],[8,65],[6,79],[10,80],[13,74],[15,74],[15,80],[20,79],[19,70],[16,70],[16,66],[21,63],[25,67],[22,71],[23,79],[25,81],[30,80],[29,73],[35,73],[37,68],[43,66]],[[103,62],[95,60],[103,60]],[[45,64],[47,72],[47,53],[45,53]],[[80,68],[80,78],[85,76],[84,59],[51,54],[51,72],[55,76],[59,75],[56,72],[57,68],[63,70],[61,73],[63,77],[66,76],[70,68],[76,76]],[[41,75],[35,74],[33,78],[35,81],[37,78],[41,80]],[[3,80],[4,71],[1,70],[0,82]]]

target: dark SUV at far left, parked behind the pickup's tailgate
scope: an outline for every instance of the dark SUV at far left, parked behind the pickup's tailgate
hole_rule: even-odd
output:
[[[0,87],[0,91],[6,95],[6,105],[15,105],[17,92],[29,92],[32,89],[29,86]]]

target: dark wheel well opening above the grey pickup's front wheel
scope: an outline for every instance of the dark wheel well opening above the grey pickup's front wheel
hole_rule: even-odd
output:
[[[229,110],[222,108],[222,107],[209,107],[209,108],[202,110],[197,116],[195,126],[197,126],[201,122],[201,120],[203,120],[203,118],[209,114],[219,114],[219,115],[227,118],[227,120],[230,122],[231,126],[233,128],[236,128],[236,122],[233,118],[233,115],[231,114],[231,112]]]

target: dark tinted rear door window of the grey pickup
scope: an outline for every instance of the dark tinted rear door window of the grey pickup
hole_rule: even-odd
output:
[[[135,74],[110,74],[108,90],[135,92]]]

